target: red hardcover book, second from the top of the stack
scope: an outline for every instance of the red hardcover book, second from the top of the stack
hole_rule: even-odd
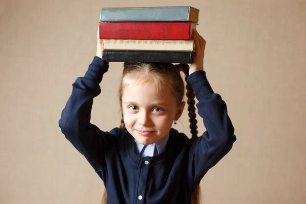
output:
[[[190,40],[193,22],[99,22],[100,39]]]

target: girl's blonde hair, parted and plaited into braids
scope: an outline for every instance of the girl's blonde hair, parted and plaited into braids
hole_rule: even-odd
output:
[[[185,95],[185,85],[181,77],[179,67],[182,68],[182,71],[185,74],[186,81],[186,96],[188,104],[188,116],[190,122],[190,132],[191,137],[197,137],[197,120],[195,114],[195,95],[192,87],[187,81],[189,77],[189,66],[187,64],[173,65],[172,63],[143,63],[143,62],[124,62],[123,64],[123,73],[119,85],[119,102],[122,110],[122,94],[124,88],[129,85],[133,86],[130,82],[133,81],[137,83],[144,82],[154,82],[159,86],[156,86],[157,92],[162,91],[165,87],[172,90],[173,96],[176,98],[176,105],[179,106],[182,104],[184,95]],[[123,113],[121,118],[120,127],[125,127],[123,120]],[[102,204],[106,204],[107,201],[107,192],[106,189],[103,193]],[[200,186],[195,189],[191,195],[191,204],[200,203]]]

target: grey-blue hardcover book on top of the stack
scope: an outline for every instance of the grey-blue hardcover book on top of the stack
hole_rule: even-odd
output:
[[[198,22],[199,11],[191,6],[102,8],[100,22]]]

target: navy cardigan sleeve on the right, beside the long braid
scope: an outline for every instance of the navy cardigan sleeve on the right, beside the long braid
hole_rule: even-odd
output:
[[[206,72],[193,72],[188,77],[188,83],[194,90],[198,114],[207,130],[202,136],[190,139],[188,176],[192,182],[199,184],[208,170],[232,149],[236,136],[226,104],[219,94],[214,93]]]

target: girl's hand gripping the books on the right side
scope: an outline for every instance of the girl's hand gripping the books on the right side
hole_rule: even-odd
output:
[[[195,44],[195,53],[193,54],[193,63],[189,67],[189,75],[197,70],[204,70],[204,50],[206,41],[200,34],[194,29],[192,31],[194,44]]]

